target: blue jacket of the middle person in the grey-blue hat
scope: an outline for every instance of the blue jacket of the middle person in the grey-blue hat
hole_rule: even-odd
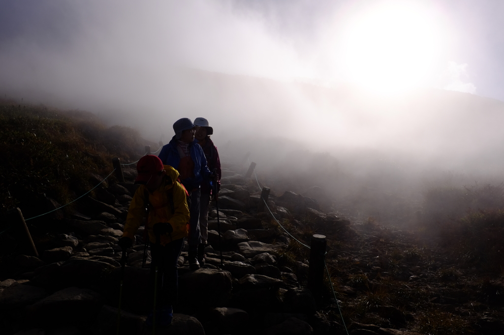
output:
[[[191,159],[194,162],[194,177],[187,178],[182,181],[183,186],[187,189],[187,191],[191,191],[195,188],[199,188],[203,178],[209,178],[212,174],[207,166],[207,158],[203,153],[202,147],[198,144],[198,141],[195,139],[193,143],[189,144],[189,152],[191,155]],[[165,165],[171,165],[175,169],[178,169],[178,165],[180,163],[180,155],[177,150],[177,140],[175,136],[171,139],[171,141],[163,146],[161,152],[159,153],[159,159]]]

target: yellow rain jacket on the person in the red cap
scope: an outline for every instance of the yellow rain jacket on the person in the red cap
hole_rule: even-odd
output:
[[[166,245],[173,240],[187,236],[189,230],[189,208],[185,200],[185,190],[177,182],[178,172],[170,165],[163,165],[165,176],[161,186],[154,192],[149,192],[145,185],[141,185],[130,204],[128,217],[124,225],[122,236],[133,238],[144,220],[146,211],[146,195],[149,195],[149,217],[147,219],[147,232],[152,243],[156,243],[153,227],[159,222],[168,222],[173,228],[170,234],[161,235],[161,244]],[[173,195],[173,209],[171,211],[171,195]]]

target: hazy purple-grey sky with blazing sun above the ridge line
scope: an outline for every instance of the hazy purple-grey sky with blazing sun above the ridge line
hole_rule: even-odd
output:
[[[379,94],[430,87],[504,100],[504,3],[494,0],[1,6],[4,91],[57,96],[79,89],[72,76],[112,83],[181,65]]]

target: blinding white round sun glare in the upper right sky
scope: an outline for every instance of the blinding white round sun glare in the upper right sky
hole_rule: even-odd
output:
[[[404,92],[425,83],[438,45],[433,19],[420,8],[375,7],[344,32],[345,75],[372,91]]]

